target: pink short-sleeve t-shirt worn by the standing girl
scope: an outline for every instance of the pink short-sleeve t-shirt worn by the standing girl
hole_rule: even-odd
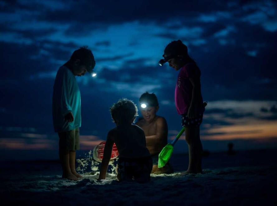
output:
[[[180,69],[175,87],[175,106],[178,114],[187,114],[192,98],[192,84],[189,77],[200,78],[200,70],[194,63],[188,63]],[[202,97],[200,99],[203,102]]]

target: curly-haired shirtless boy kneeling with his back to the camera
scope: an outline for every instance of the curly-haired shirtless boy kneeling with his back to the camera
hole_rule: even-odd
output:
[[[146,148],[143,130],[133,125],[138,108],[133,101],[120,99],[110,108],[116,127],[108,133],[101,163],[99,179],[106,178],[106,172],[111,157],[113,144],[119,151],[118,175],[119,181],[135,179],[139,183],[150,181],[152,159]]]

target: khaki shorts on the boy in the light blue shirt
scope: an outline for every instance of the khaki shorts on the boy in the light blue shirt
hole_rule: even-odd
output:
[[[79,128],[69,130],[66,132],[59,132],[59,148],[66,150],[79,150],[80,149],[80,131]]]

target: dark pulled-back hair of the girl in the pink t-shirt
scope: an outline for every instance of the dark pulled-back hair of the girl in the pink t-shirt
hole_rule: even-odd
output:
[[[172,41],[171,43],[167,44],[166,48],[164,49],[164,54],[171,55],[171,56],[184,55],[185,58],[187,59],[187,62],[194,63],[195,66],[199,69],[195,60],[192,59],[188,54],[188,47],[185,44],[183,44],[180,39],[177,41]]]

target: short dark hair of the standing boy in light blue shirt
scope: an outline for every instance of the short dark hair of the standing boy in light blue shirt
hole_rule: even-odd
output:
[[[95,67],[95,60],[92,51],[87,46],[80,47],[75,50],[70,57],[71,60],[80,60],[80,65],[85,65],[89,73],[92,72]]]

